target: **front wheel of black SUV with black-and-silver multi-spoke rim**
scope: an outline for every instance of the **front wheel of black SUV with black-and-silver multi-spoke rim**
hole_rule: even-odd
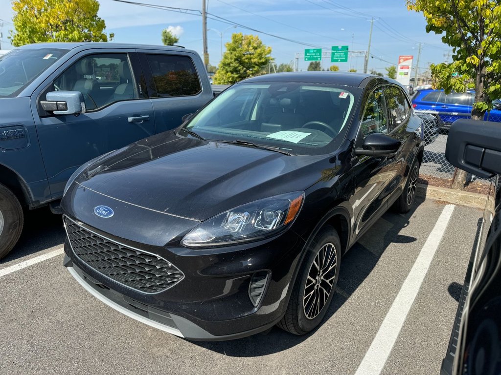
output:
[[[299,335],[320,324],[336,290],[340,260],[339,235],[332,226],[326,225],[308,248],[279,327]]]

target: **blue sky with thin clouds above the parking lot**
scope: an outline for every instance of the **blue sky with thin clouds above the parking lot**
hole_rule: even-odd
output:
[[[136,0],[137,2],[200,9],[201,0]],[[419,68],[422,71],[430,62],[442,62],[450,48],[444,45],[440,35],[426,33],[426,22],[420,13],[407,10],[405,0],[206,0],[208,12],[215,19],[207,20],[207,28],[224,31],[223,43],[230,39],[231,32],[258,34],[263,42],[273,49],[277,63],[294,60],[296,52],[311,47],[330,50],[332,45],[349,45],[352,50],[366,50],[369,41],[370,19],[372,33],[369,69],[384,72],[390,64],[396,65],[400,54],[418,54],[418,42],[422,42]],[[153,9],[113,0],[100,0],[99,15],[106,21],[107,32],[114,32],[116,42],[161,44],[161,30],[171,26],[179,32],[179,44],[202,53],[202,22],[199,15]],[[0,19],[4,20],[2,48],[12,46],[7,39],[13,28],[11,0],[0,0]],[[237,26],[232,28],[216,18],[223,17],[244,26],[292,39],[286,41],[261,32]],[[0,21],[1,22],[1,21]],[[229,28],[228,28],[229,27]],[[220,59],[220,36],[207,31],[209,61],[217,65]],[[224,45],[223,45],[224,50]],[[450,57],[449,57],[450,58]],[[332,63],[324,58],[322,66]],[[341,70],[348,63],[337,63]],[[352,67],[363,70],[363,58],[353,58]],[[299,68],[306,69],[308,62],[300,59]]]

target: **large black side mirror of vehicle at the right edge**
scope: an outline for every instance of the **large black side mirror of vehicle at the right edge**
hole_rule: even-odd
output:
[[[447,136],[445,157],[452,165],[479,177],[501,173],[501,123],[455,120]]]

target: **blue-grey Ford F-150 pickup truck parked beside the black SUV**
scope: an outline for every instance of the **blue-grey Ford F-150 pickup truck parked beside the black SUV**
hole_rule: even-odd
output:
[[[86,161],[177,127],[213,97],[200,56],[175,46],[40,43],[0,57],[0,259],[24,209],[58,212]]]

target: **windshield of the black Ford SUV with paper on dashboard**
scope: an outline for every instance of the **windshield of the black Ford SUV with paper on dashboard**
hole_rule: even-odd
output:
[[[210,140],[246,141],[295,154],[337,148],[360,89],[314,83],[239,83],[185,127]]]

